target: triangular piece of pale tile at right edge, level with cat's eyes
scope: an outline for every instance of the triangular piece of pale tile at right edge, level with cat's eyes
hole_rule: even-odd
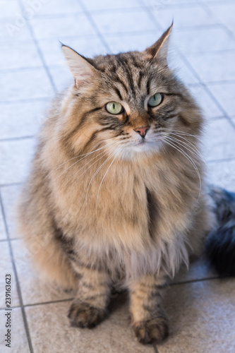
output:
[[[228,115],[233,115],[235,112],[235,83],[212,83],[207,84],[207,88],[212,92],[215,99],[219,101],[224,111]]]

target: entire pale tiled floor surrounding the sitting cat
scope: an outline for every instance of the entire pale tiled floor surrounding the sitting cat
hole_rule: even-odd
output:
[[[87,56],[144,49],[172,18],[171,65],[207,120],[208,179],[235,191],[234,11],[233,0],[1,0],[1,352],[235,352],[235,282],[217,279],[203,259],[182,269],[167,290],[171,335],[162,345],[138,344],[123,299],[94,330],[70,328],[73,293],[37,277],[13,220],[44,110],[72,80],[59,40]],[[11,349],[4,343],[6,273],[13,279]]]

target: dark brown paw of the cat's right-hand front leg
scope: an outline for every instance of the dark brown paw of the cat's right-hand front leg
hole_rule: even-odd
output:
[[[143,345],[162,342],[169,335],[168,320],[164,316],[133,323],[133,329],[138,341]]]

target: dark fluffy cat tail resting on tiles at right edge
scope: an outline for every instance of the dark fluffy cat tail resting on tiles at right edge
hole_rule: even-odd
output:
[[[235,193],[210,189],[218,227],[206,241],[206,253],[221,276],[235,276]]]

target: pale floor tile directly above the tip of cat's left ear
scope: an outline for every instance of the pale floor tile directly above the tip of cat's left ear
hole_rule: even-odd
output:
[[[63,18],[43,18],[43,20],[33,18],[30,23],[37,39],[55,38],[61,40],[61,37],[95,34],[95,30],[83,13]]]

